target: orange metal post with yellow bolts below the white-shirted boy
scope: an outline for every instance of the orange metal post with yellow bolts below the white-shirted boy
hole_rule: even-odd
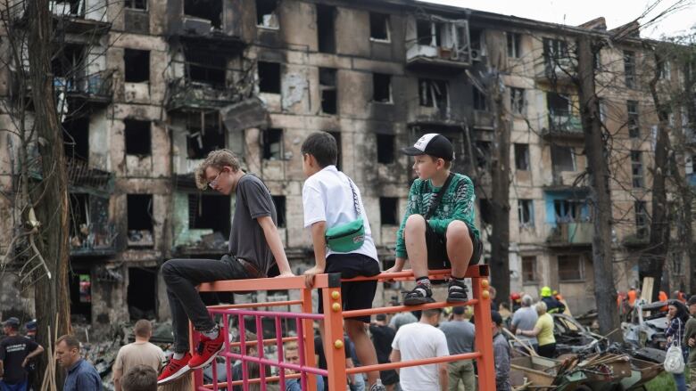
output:
[[[329,274],[328,288],[321,289],[324,302],[324,353],[327,355],[329,391],[345,389],[344,315],[341,304],[341,274]]]

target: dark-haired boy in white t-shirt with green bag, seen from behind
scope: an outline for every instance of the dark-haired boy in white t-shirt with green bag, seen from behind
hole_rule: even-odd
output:
[[[360,190],[344,173],[336,169],[338,147],[333,135],[326,132],[310,134],[302,143],[302,171],[307,180],[302,186],[304,227],[311,231],[316,265],[304,274],[307,287],[311,288],[314,276],[320,273],[341,273],[344,279],[357,276],[373,276],[379,273],[377,248],[372,240],[368,216],[362,205]],[[357,205],[356,205],[357,203]],[[356,210],[357,209],[357,210]],[[362,216],[365,228],[364,242],[351,252],[338,253],[327,248],[327,229],[347,224]],[[377,281],[344,282],[341,284],[341,300],[344,310],[372,307]],[[319,295],[321,297],[321,295]],[[323,312],[319,299],[319,313]],[[346,318],[345,331],[355,345],[355,352],[362,365],[377,364],[375,346],[365,331],[369,316]],[[379,381],[379,371],[370,371],[369,391],[381,391],[385,387]]]

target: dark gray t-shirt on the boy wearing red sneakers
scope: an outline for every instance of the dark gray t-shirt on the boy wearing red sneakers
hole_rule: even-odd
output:
[[[256,265],[263,273],[268,273],[275,263],[266,236],[257,218],[270,216],[278,224],[276,206],[270,192],[261,179],[254,175],[244,175],[236,184],[235,216],[229,231],[229,254]]]

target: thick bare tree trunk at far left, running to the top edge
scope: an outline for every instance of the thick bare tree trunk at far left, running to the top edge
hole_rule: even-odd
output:
[[[70,328],[68,300],[68,266],[70,265],[68,224],[68,176],[63,152],[62,126],[54,100],[51,57],[53,54],[53,15],[48,0],[28,2],[29,15],[29,84],[35,112],[35,127],[41,155],[42,180],[32,189],[31,200],[41,222],[37,247],[46,260],[50,279],[35,284],[38,342],[47,346]],[[56,314],[58,322],[56,323]],[[47,360],[41,356],[38,373],[44,373]],[[62,378],[62,372],[58,372]],[[62,385],[62,379],[57,379]]]

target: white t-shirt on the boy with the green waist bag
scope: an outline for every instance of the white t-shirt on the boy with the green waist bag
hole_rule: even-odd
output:
[[[304,228],[310,228],[311,224],[324,221],[329,229],[336,225],[350,223],[357,218],[351,184],[348,181],[348,176],[339,172],[336,166],[324,167],[304,181],[304,186],[302,186]],[[365,224],[365,242],[362,247],[351,251],[351,253],[363,254],[377,261],[377,248],[372,240],[372,231],[369,229],[368,216],[362,205],[360,189],[354,183],[353,188],[358,196],[360,214],[362,222]],[[331,254],[336,253],[327,248],[327,257]]]

